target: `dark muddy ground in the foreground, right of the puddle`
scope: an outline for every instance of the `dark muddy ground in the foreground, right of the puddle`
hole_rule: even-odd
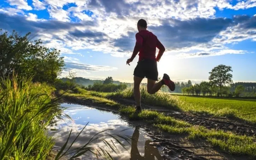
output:
[[[153,139],[151,145],[162,147],[163,160],[252,160],[248,156],[234,156],[213,148],[207,142],[188,141],[185,135],[173,135],[144,121],[129,121],[132,126],[144,128]]]

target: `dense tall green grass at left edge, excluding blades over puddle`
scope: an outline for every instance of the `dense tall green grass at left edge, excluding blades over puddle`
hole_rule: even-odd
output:
[[[60,114],[46,84],[2,79],[0,83],[0,159],[45,159],[54,145],[46,126]]]

